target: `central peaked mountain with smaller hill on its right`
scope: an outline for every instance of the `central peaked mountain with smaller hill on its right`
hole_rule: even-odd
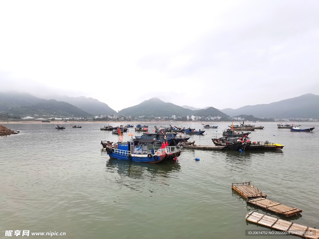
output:
[[[189,110],[185,109],[182,106],[174,105],[172,103],[166,103],[161,101],[159,98],[151,98],[149,100],[145,100],[142,103],[122,109],[119,115],[131,115],[132,117],[137,116],[154,116],[154,117],[162,117],[168,116],[172,117],[172,115],[176,116],[186,116],[186,115],[197,115],[201,117],[207,116],[221,116],[221,117],[228,117],[228,115],[224,114],[223,112],[215,109],[214,107],[209,107],[206,110]]]

